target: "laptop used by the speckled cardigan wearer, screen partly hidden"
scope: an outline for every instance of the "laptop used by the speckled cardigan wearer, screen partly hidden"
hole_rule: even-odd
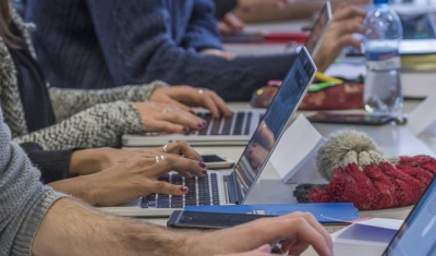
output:
[[[331,23],[331,7],[327,1],[319,12],[313,31],[304,46],[314,58],[320,48],[325,34]],[[300,48],[300,47],[299,47]],[[298,49],[300,50],[300,49]],[[161,146],[168,143],[185,141],[192,146],[245,146],[261,123],[264,109],[246,109],[233,111],[231,118],[213,119],[208,110],[196,111],[207,121],[208,126],[191,134],[124,134],[123,147]]]

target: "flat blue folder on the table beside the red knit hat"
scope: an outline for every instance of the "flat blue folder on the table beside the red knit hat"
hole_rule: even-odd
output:
[[[320,223],[339,223],[360,219],[359,210],[352,203],[185,206],[184,210],[270,216],[282,216],[294,211],[308,211]]]

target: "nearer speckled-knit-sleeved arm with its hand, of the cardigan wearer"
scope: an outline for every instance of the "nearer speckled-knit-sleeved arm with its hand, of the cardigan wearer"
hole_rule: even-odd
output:
[[[175,106],[119,100],[96,105],[60,123],[15,137],[14,141],[36,143],[45,150],[116,147],[120,145],[121,135],[128,133],[189,133],[205,126],[205,120]]]

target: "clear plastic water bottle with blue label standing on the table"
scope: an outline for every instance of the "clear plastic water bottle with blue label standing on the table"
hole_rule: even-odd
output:
[[[400,82],[399,46],[402,26],[388,0],[374,0],[363,21],[366,57],[364,103],[375,114],[400,114],[403,95]]]

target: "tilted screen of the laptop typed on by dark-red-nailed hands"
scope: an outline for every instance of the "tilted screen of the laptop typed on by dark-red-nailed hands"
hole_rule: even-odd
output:
[[[235,175],[237,203],[243,203],[261,170],[265,168],[276,142],[303,99],[315,72],[316,66],[303,47],[232,173]]]

